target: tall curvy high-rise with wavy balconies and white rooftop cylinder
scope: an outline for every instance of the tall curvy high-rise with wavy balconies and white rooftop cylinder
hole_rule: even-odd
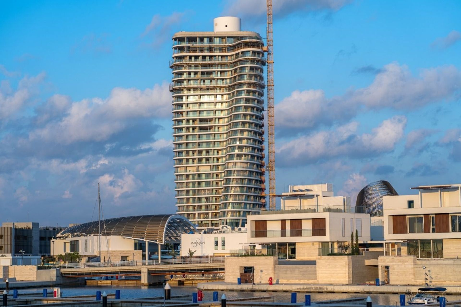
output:
[[[177,213],[201,228],[245,226],[266,202],[264,45],[237,17],[173,36]]]

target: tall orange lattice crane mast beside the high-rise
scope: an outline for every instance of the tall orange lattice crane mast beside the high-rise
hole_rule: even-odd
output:
[[[275,133],[274,133],[274,54],[272,40],[272,0],[267,1],[267,143],[269,161],[269,209],[275,209]]]

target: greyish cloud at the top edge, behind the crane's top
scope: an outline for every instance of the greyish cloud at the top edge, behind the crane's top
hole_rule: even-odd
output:
[[[272,2],[274,17],[283,17],[293,12],[337,11],[350,0],[277,0]],[[265,16],[266,0],[233,0],[225,14],[229,16]]]

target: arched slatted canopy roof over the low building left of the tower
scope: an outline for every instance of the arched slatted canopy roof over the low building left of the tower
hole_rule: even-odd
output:
[[[101,234],[165,244],[181,240],[181,234],[195,232],[189,220],[178,214],[137,215],[101,220]],[[66,228],[57,237],[98,234],[98,221]]]

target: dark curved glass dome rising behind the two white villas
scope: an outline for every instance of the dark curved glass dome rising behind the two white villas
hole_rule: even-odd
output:
[[[378,180],[366,185],[357,195],[357,212],[383,216],[383,196],[399,195],[387,181]]]

